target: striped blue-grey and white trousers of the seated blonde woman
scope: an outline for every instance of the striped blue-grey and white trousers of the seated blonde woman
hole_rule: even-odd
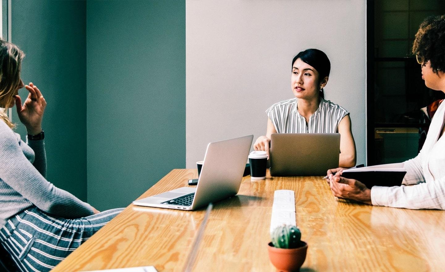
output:
[[[32,207],[0,229],[1,246],[19,271],[49,271],[122,210],[65,219]]]

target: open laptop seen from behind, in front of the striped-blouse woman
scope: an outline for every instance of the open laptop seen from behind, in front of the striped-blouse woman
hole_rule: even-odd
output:
[[[274,133],[271,135],[272,176],[321,176],[337,168],[339,133]]]

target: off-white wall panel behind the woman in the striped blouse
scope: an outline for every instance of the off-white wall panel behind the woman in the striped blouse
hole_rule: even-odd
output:
[[[186,1],[186,167],[208,142],[266,133],[273,103],[292,98],[291,61],[307,48],[331,61],[326,99],[351,113],[365,162],[366,2]]]

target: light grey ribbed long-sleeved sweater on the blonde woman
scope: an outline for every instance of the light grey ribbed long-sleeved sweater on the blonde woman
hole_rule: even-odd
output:
[[[0,227],[34,205],[64,218],[93,214],[93,208],[46,179],[44,140],[29,146],[0,120]]]

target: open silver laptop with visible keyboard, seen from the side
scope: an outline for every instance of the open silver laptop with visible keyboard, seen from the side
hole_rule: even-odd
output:
[[[198,185],[181,187],[159,195],[133,201],[134,205],[195,210],[210,202],[236,195],[243,179],[253,135],[207,146]]]

